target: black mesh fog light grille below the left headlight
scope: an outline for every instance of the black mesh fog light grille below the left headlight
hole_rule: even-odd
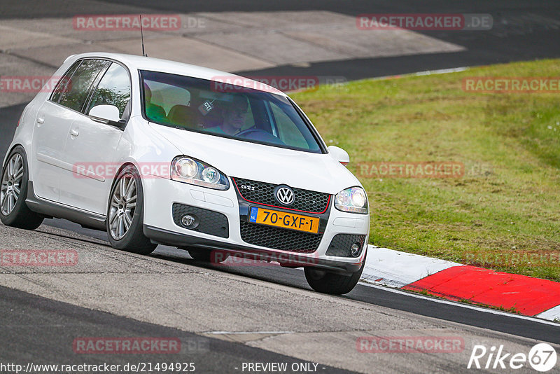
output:
[[[181,223],[181,218],[183,218],[185,214],[196,216],[199,221],[198,226],[195,228],[188,228],[183,226],[183,223]],[[212,210],[191,207],[190,205],[183,205],[176,202],[173,205],[173,221],[177,226],[197,231],[198,233],[204,233],[218,237],[230,236],[228,217],[226,217],[224,214],[214,212]]]

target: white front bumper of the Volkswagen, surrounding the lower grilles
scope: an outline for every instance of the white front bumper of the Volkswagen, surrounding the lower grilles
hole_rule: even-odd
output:
[[[232,181],[230,181],[231,183]],[[356,272],[360,269],[367,247],[369,233],[369,216],[340,212],[335,209],[330,199],[330,209],[321,218],[324,223],[321,227],[322,238],[311,253],[298,253],[268,247],[260,247],[245,242],[241,238],[241,224],[246,223],[248,206],[259,206],[247,203],[239,198],[235,183],[231,183],[227,191],[216,191],[187,183],[171,181],[158,177],[144,178],[144,235],[158,244],[167,244],[179,248],[196,247],[200,249],[218,249],[233,253],[240,253],[255,258],[266,256],[272,261],[282,262],[289,258],[289,263],[297,265],[313,265],[317,268],[334,272]],[[207,209],[223,214],[228,219],[227,237],[209,235],[183,228],[174,220],[172,207],[174,204],[187,205],[200,209]],[[274,209],[274,208],[272,208]],[[295,212],[298,213],[298,212]],[[313,216],[313,214],[309,214]],[[292,230],[281,229],[286,232]],[[342,257],[328,256],[326,254],[329,244],[337,234],[366,235],[364,248],[360,256]]]

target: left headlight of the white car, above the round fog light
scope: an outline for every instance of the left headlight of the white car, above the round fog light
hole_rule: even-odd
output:
[[[228,177],[202,161],[179,156],[171,163],[171,179],[215,190],[230,188]]]

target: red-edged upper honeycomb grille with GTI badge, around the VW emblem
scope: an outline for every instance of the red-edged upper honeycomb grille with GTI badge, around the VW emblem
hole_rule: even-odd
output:
[[[294,201],[291,205],[284,206],[279,204],[276,198],[274,198],[274,188],[279,185],[239,178],[234,178],[233,180],[237,185],[237,191],[239,191],[241,198],[258,204],[321,214],[327,210],[330,201],[330,195],[328,193],[292,188],[295,197]]]

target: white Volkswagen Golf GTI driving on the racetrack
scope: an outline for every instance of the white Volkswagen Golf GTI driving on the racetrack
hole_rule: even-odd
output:
[[[111,53],[68,57],[55,77],[25,107],[3,160],[5,225],[63,218],[106,230],[116,249],[248,256],[303,267],[316,291],[356,286],[366,193],[348,153],[327,147],[287,95]]]

